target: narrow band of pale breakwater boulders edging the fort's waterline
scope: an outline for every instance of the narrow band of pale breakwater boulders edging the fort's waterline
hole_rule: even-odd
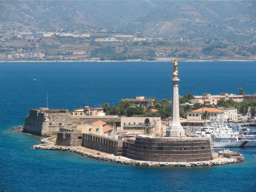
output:
[[[34,145],[34,149],[44,149],[44,150],[58,150],[58,151],[68,151],[71,153],[75,153],[80,156],[89,157],[92,159],[97,159],[100,161],[113,162],[117,164],[125,164],[125,165],[140,165],[140,166],[158,166],[158,167],[194,167],[194,166],[215,166],[215,165],[225,165],[231,163],[237,163],[237,159],[225,159],[218,161],[207,161],[207,162],[148,162],[148,161],[136,161],[136,160],[124,160],[119,157],[108,157],[108,156],[100,156],[94,153],[90,153],[81,149],[70,148],[70,147],[60,147],[60,146],[45,146]]]

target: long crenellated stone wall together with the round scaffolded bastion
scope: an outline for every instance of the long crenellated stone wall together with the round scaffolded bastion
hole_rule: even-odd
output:
[[[56,145],[83,146],[90,149],[127,156],[141,161],[197,162],[213,159],[210,138],[170,138],[136,136],[136,140],[121,141],[94,134],[60,132]]]

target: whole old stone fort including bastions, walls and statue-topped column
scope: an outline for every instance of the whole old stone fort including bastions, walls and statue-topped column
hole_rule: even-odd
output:
[[[103,108],[75,109],[71,115],[68,110],[30,109],[25,118],[24,131],[40,136],[57,132],[56,145],[83,146],[90,149],[126,156],[135,160],[159,162],[195,162],[213,159],[213,147],[209,137],[186,137],[180,124],[177,61],[174,60],[172,74],[172,117],[164,137],[142,134],[142,129],[155,128],[159,124],[156,117],[133,117],[132,123],[122,125],[125,129],[137,129],[140,134],[132,137],[110,138],[117,132],[118,116],[106,116]],[[144,101],[145,102],[145,101]],[[128,117],[125,117],[128,118]],[[144,120],[143,120],[144,119]],[[114,128],[107,123],[114,122]],[[122,121],[122,120],[121,120]],[[145,123],[143,123],[145,121]],[[161,122],[161,120],[160,120]],[[125,123],[124,123],[125,124]],[[124,132],[124,130],[120,130]],[[132,132],[133,133],[133,132]],[[136,132],[137,133],[137,132]]]

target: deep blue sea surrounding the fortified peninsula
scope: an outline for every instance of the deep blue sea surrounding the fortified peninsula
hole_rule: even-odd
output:
[[[179,62],[179,93],[256,92],[255,62]],[[256,148],[232,148],[244,162],[212,167],[139,167],[34,150],[40,137],[12,132],[30,108],[113,106],[136,96],[171,99],[170,62],[0,63],[0,190],[256,191]],[[33,80],[36,79],[36,80]],[[220,148],[219,148],[220,149]],[[215,149],[218,151],[219,149]]]

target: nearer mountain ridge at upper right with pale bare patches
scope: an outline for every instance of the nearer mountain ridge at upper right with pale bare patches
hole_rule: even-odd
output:
[[[256,1],[166,1],[124,28],[166,38],[255,36]],[[250,38],[250,37],[249,37]]]

